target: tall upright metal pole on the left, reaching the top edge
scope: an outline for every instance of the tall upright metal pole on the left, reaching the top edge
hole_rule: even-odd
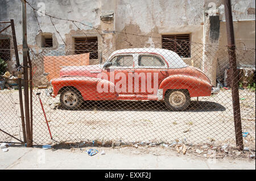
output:
[[[28,98],[28,67],[27,67],[27,14],[26,1],[22,0],[22,27],[23,27],[23,67],[24,67],[24,103],[25,103],[25,120],[26,120],[26,138],[27,147],[32,146],[30,134],[30,108]]]

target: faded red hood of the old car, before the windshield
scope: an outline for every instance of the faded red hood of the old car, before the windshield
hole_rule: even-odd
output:
[[[97,73],[101,73],[102,65],[86,65],[86,66],[64,66],[60,69],[60,77],[67,76],[84,76],[97,77]]]

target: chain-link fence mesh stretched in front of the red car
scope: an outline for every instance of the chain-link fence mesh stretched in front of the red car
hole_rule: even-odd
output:
[[[170,50],[95,50],[95,43],[31,49],[34,142],[51,141],[40,92],[55,141],[235,147],[227,48],[171,41]],[[191,53],[172,52],[174,44]],[[255,150],[255,49],[237,48],[237,65],[244,145]]]

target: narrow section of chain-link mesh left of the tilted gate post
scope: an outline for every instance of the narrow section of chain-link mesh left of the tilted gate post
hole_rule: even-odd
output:
[[[10,33],[10,32],[9,32]],[[10,68],[10,38],[0,39],[0,142],[19,142],[22,139],[20,121],[18,78]],[[15,138],[14,138],[15,137]]]

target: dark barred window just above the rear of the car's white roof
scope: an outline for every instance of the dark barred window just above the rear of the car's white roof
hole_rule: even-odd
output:
[[[190,35],[162,35],[162,48],[179,54],[181,58],[191,57]]]

